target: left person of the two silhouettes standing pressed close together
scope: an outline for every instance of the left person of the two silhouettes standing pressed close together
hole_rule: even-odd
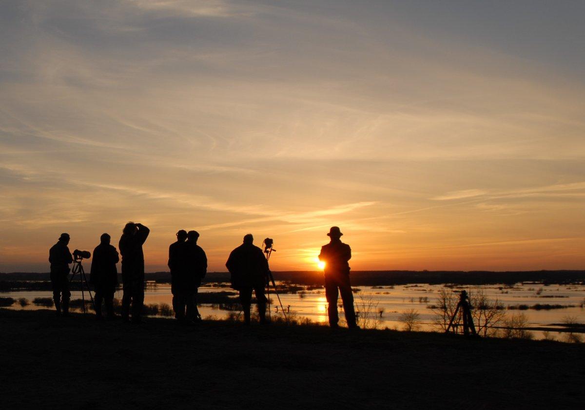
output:
[[[173,310],[180,323],[187,323],[185,308],[188,302],[188,270],[187,270],[187,231],[177,232],[177,242],[168,247],[168,268],[171,270],[171,293],[173,294]]]

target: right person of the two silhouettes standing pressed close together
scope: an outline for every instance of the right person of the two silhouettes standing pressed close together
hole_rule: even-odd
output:
[[[197,244],[199,233],[196,230],[187,232],[187,268],[188,268],[188,295],[187,295],[187,319],[193,322],[201,322],[201,315],[197,309],[197,292],[201,286],[201,280],[207,273],[207,255]]]

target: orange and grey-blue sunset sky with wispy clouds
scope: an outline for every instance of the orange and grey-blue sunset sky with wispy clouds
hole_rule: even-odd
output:
[[[585,268],[585,2],[2,1],[0,271],[128,220],[210,271]]]

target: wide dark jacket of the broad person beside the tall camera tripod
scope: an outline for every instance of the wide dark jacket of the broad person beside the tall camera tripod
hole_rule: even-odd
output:
[[[228,268],[232,288],[264,287],[268,275],[268,262],[262,250],[251,243],[243,243],[229,254]]]

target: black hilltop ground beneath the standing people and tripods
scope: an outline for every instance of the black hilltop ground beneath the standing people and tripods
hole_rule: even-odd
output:
[[[0,309],[5,409],[580,409],[585,350],[548,341]]]

